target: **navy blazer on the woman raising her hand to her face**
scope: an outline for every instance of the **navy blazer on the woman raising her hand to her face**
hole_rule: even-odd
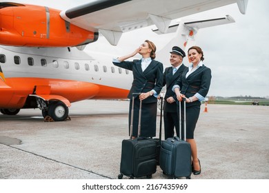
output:
[[[134,80],[128,94],[128,99],[132,99],[132,93],[149,92],[155,90],[157,94],[161,92],[163,85],[163,64],[159,61],[152,60],[146,70],[142,71],[141,60],[122,61],[120,63],[113,62],[121,68],[132,70]],[[136,96],[137,97],[137,96]],[[157,102],[155,96],[150,96],[143,100],[143,103]]]

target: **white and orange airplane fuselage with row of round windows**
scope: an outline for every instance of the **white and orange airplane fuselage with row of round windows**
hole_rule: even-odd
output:
[[[70,103],[126,99],[132,83],[132,72],[114,66],[112,58],[97,61],[77,48],[1,46],[0,57],[6,79],[0,85],[0,108],[23,108],[35,92],[63,96]],[[46,93],[35,90],[41,87],[47,87]]]

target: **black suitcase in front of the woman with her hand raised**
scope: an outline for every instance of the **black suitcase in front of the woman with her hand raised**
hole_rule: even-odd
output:
[[[131,119],[133,119],[134,100],[135,97],[133,96]],[[139,135],[141,133],[141,105],[142,101],[140,101],[139,108]],[[152,174],[157,170],[157,143],[153,139],[141,136],[131,139],[132,122],[133,120],[131,120],[130,125],[130,139],[123,139],[121,143],[121,165],[118,179],[122,179],[123,175],[129,176],[130,179],[140,178],[142,176],[150,179]]]

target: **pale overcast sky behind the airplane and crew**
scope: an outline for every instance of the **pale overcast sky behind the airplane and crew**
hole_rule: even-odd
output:
[[[66,10],[88,3],[89,0],[14,2]],[[203,49],[205,55],[203,63],[212,70],[212,83],[208,96],[269,96],[269,54],[266,49],[269,43],[268,8],[268,0],[249,0],[244,15],[239,12],[235,3],[190,16],[194,19],[210,19],[229,14],[235,19],[235,23],[201,29],[195,39],[196,45]],[[128,32],[123,34],[117,49],[125,51],[130,49],[132,52],[140,41],[145,39],[154,41],[157,48],[161,47],[163,42],[152,38],[155,38],[155,34],[150,32],[150,28]],[[96,43],[88,45],[86,50],[100,50],[99,47],[108,50],[113,48],[105,39],[100,38]],[[117,49],[114,48],[111,52]]]

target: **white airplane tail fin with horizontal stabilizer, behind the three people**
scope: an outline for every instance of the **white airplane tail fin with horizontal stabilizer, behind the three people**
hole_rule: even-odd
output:
[[[167,33],[175,33],[175,37],[172,38],[159,52],[157,52],[157,60],[163,63],[168,63],[170,58],[170,51],[172,47],[177,45],[179,48],[187,52],[188,42],[190,40],[195,41],[195,35],[200,28],[208,28],[212,26],[218,26],[228,23],[234,23],[235,20],[226,15],[226,17],[217,19],[207,19],[200,21],[181,21],[175,25],[169,26]],[[152,30],[157,34],[161,34],[159,30]],[[186,53],[187,55],[187,53]]]

